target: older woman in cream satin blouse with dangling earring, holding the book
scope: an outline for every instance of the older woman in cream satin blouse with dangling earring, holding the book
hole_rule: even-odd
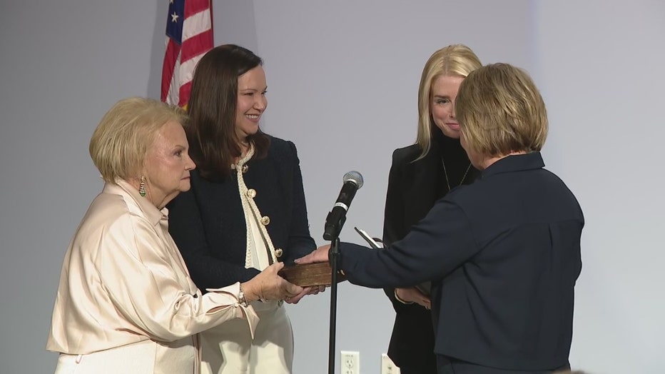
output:
[[[181,108],[146,98],[116,103],[90,142],[106,182],[62,266],[47,350],[56,373],[198,373],[202,330],[258,317],[248,303],[302,292],[275,263],[202,295],[168,234],[165,206],[190,188]]]

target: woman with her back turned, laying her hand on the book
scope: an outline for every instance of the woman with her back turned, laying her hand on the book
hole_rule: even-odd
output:
[[[568,368],[584,216],[544,169],[542,97],[521,69],[492,64],[462,82],[455,113],[479,179],[437,201],[385,250],[342,243],[338,266],[372,288],[432,281],[439,374]],[[297,262],[326,261],[328,250]]]

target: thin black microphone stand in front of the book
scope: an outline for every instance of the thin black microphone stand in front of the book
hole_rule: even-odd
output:
[[[332,212],[331,212],[332,213]],[[328,213],[330,217],[330,213]],[[337,328],[337,258],[340,255],[340,231],[346,221],[346,216],[341,216],[340,220],[325,226],[323,239],[330,241],[330,250],[328,251],[328,261],[332,268],[330,284],[330,332],[328,340],[328,374],[335,374],[335,335]]]

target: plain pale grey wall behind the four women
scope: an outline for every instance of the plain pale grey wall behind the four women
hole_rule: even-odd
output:
[[[215,1],[215,41],[265,59],[269,133],[298,145],[310,225],[341,177],[365,176],[353,226],[380,235],[390,154],[415,138],[422,65],[452,43],[532,73],[549,109],[544,150],[586,213],[571,359],[591,373],[662,373],[665,228],[658,0]],[[51,308],[67,243],[101,188],[87,154],[119,98],[158,97],[166,1],[36,0],[0,13],[0,373],[48,373]],[[295,373],[325,373],[328,293],[289,306]],[[337,352],[379,373],[392,308],[342,283]],[[315,320],[315,323],[310,322]],[[338,367],[339,365],[337,365]]]

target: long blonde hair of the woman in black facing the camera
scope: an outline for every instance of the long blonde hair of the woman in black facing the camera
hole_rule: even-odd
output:
[[[420,156],[423,158],[432,146],[432,130],[436,127],[430,112],[432,83],[440,76],[461,76],[465,78],[482,64],[478,56],[463,44],[454,44],[436,51],[427,60],[420,76],[418,89],[418,137]]]

